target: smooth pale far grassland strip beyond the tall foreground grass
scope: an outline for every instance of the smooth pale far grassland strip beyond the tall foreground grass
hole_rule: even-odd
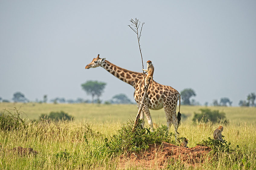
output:
[[[97,122],[105,121],[121,121],[126,122],[128,119],[135,119],[138,112],[135,104],[45,104],[45,103],[0,103],[0,111],[3,109],[11,110],[16,107],[23,113],[24,119],[38,119],[41,114],[49,114],[52,111],[64,111],[74,117],[75,122],[96,120]],[[194,112],[199,112],[204,106],[184,106],[180,108],[181,114],[184,116],[182,121],[191,120]],[[232,123],[239,122],[255,122],[256,107],[207,107],[211,110],[219,110],[226,113],[226,117]],[[177,107],[178,111],[178,107]],[[163,109],[150,110],[154,123],[165,124],[165,113]]]

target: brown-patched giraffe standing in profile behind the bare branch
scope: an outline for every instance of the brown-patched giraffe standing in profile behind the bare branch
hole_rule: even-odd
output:
[[[113,74],[118,79],[133,86],[135,88],[134,99],[137,102],[137,105],[139,106],[139,101],[142,101],[142,97],[144,95],[143,73],[126,70],[119,66],[116,66],[110,63],[105,58],[100,58],[99,54],[97,58],[93,58],[92,62],[86,65],[85,69],[95,68],[98,66],[103,67],[105,70]],[[141,89],[140,89],[140,82],[142,84]],[[152,86],[152,81],[150,81],[149,87],[151,86]],[[154,97],[153,97],[152,91],[153,89],[150,89],[150,88],[147,90],[147,95],[144,102],[144,106],[142,108],[140,119],[144,119],[144,114],[145,114],[148,124],[150,125],[151,129],[153,129],[153,122],[152,122],[149,109],[159,110],[164,107],[168,130],[170,130],[170,126],[172,124],[174,125],[174,128],[175,128],[174,130],[177,130],[178,126],[180,125],[180,116],[181,116],[180,111],[176,116],[176,108],[177,108],[178,100],[180,100],[180,93],[170,86],[161,85],[155,81],[154,81]]]

